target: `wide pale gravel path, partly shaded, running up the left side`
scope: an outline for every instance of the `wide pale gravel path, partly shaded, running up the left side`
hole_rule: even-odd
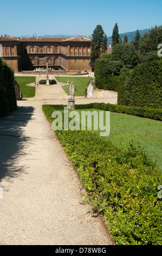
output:
[[[0,245],[108,245],[99,219],[80,204],[84,191],[43,103],[18,101],[0,119]]]

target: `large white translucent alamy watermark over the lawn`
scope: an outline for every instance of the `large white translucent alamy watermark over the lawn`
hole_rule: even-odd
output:
[[[109,111],[68,111],[64,107],[61,111],[54,111],[51,115],[55,118],[51,124],[56,130],[95,130],[100,131],[100,136],[108,136],[110,133],[110,112]],[[70,120],[69,120],[70,119]]]

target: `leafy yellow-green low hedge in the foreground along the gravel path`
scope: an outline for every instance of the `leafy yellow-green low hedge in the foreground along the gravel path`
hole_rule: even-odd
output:
[[[43,105],[50,123],[55,106]],[[93,131],[55,133],[86,187],[86,202],[103,214],[115,244],[162,245],[162,173],[142,147],[130,143],[121,150]]]

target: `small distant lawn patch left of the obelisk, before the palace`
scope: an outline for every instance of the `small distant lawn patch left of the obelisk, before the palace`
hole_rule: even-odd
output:
[[[35,87],[25,86],[25,84],[34,83],[35,76],[15,76],[15,79],[20,86],[23,97],[35,96]]]

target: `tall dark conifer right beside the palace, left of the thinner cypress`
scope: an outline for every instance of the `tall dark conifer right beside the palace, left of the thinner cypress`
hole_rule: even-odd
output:
[[[91,52],[90,52],[90,66],[94,71],[95,60],[101,56],[103,52],[102,44],[105,45],[105,33],[101,25],[97,25],[92,34]]]

